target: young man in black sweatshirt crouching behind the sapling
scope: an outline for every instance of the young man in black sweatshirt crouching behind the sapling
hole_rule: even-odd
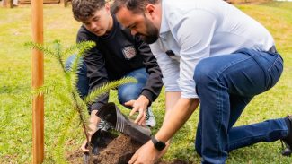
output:
[[[84,55],[79,71],[78,90],[84,97],[88,91],[102,86],[104,82],[118,80],[125,76],[137,79],[136,84],[126,84],[118,88],[119,102],[132,108],[130,115],[139,112],[135,122],[138,125],[155,126],[151,103],[158,97],[163,82],[162,74],[150,47],[139,37],[132,36],[129,30],[122,30],[110,4],[104,0],[73,0],[72,11],[76,21],[82,22],[77,34],[77,42],[92,40],[96,43]],[[67,61],[70,65],[75,56]],[[109,95],[97,99],[91,107],[90,128],[97,130],[100,118],[96,116],[99,108],[108,101]],[[85,149],[84,142],[82,146]]]

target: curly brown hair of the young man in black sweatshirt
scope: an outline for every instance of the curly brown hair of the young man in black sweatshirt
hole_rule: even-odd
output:
[[[105,0],[72,0],[75,20],[78,22],[88,20],[96,11],[102,9],[105,3]]]

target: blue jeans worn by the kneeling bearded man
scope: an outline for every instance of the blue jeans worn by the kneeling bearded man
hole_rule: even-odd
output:
[[[200,100],[195,148],[202,163],[225,163],[229,151],[288,135],[284,118],[234,127],[245,106],[273,87],[282,71],[279,54],[246,48],[199,62],[194,75]]]

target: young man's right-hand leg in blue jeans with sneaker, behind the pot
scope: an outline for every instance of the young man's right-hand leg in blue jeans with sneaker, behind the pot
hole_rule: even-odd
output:
[[[137,79],[137,83],[130,83],[119,86],[118,88],[118,99],[119,103],[124,105],[125,102],[128,102],[132,99],[137,99],[140,96],[142,89],[145,87],[147,79],[149,77],[146,73],[145,68],[140,68],[135,71],[132,71],[125,76],[134,77]],[[125,106],[126,107],[126,106]],[[127,107],[128,108],[128,107]],[[154,127],[156,124],[155,116],[149,107],[146,113],[146,125]]]

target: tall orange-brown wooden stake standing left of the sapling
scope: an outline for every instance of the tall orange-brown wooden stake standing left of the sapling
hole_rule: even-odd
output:
[[[31,0],[31,24],[33,42],[43,44],[43,0]],[[31,58],[32,89],[44,82],[43,53],[33,49]],[[32,163],[44,160],[44,96],[32,99]]]

